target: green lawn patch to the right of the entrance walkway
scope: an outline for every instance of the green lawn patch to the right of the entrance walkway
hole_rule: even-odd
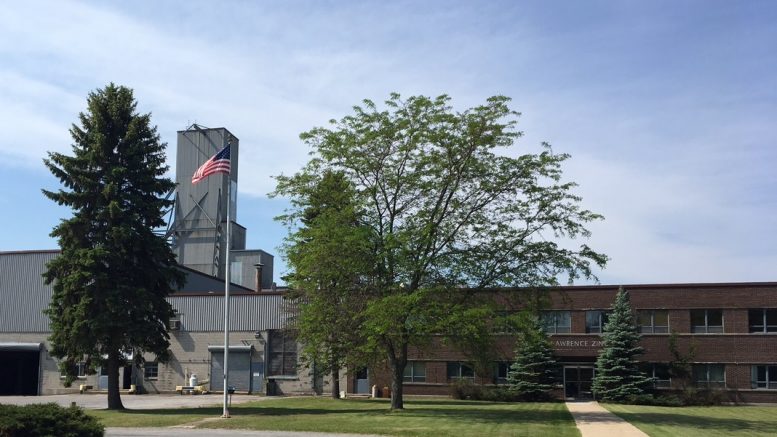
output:
[[[777,406],[605,407],[651,437],[755,437],[777,435]]]

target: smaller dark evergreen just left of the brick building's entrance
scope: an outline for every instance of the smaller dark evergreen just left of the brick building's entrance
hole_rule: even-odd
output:
[[[531,317],[518,334],[515,362],[507,373],[510,389],[522,400],[545,401],[558,381],[559,364],[539,318]]]

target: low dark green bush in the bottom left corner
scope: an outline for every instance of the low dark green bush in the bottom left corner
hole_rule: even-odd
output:
[[[0,437],[92,437],[104,433],[105,427],[79,407],[0,405]]]

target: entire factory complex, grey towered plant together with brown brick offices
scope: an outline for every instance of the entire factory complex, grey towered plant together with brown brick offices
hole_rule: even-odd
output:
[[[198,185],[194,171],[226,144],[232,146],[232,172],[216,174]],[[293,305],[273,283],[273,256],[246,248],[245,227],[237,223],[236,196],[239,140],[225,128],[192,125],[178,132],[175,201],[169,227],[162,230],[178,257],[186,284],[168,297],[176,311],[170,324],[172,360],[149,361],[133,368],[128,357],[121,371],[122,388],[172,392],[192,376],[222,389],[224,276],[230,217],[232,278],[230,317],[230,384],[240,393],[321,393],[324,381],[300,366],[299,344],[288,321]],[[231,185],[231,187],[230,187]],[[228,187],[231,190],[228,190]],[[233,201],[227,202],[231,191]],[[231,210],[227,214],[227,207]],[[107,387],[107,376],[79,368],[79,381],[62,385],[56,360],[49,355],[48,307],[52,289],[43,283],[46,263],[58,251],[0,252],[0,395],[72,392],[80,386]],[[625,287],[636,311],[645,354],[645,369],[659,390],[678,390],[667,365],[673,359],[669,339],[676,333],[678,349],[689,355],[692,380],[699,387],[722,390],[734,400],[777,402],[777,283],[658,284]],[[558,395],[591,397],[594,361],[601,349],[601,331],[618,287],[568,286],[549,290],[551,304],[542,313],[562,365]],[[518,311],[526,290],[494,291],[505,311]],[[431,339],[431,345],[410,350],[405,393],[450,393],[457,380],[485,385],[506,382],[513,358],[514,336],[497,335],[489,372],[475,372],[468,354]],[[345,378],[349,393],[369,393],[390,385],[381,369],[359,369]],[[270,387],[268,387],[270,383]]]

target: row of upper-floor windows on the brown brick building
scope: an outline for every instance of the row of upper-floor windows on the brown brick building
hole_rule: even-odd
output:
[[[567,334],[572,331],[570,311],[543,311],[542,323],[549,334]],[[777,332],[777,308],[750,309],[748,325],[750,333]],[[607,323],[608,311],[585,312],[585,332],[599,334]],[[717,334],[723,332],[723,310],[690,310],[691,332],[694,334]],[[637,326],[643,334],[669,333],[668,310],[638,310]]]

